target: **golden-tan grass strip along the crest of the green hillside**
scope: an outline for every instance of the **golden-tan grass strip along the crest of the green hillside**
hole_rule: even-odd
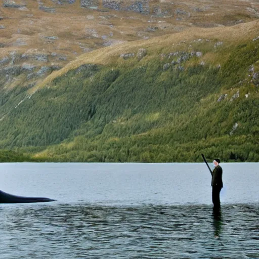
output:
[[[258,34],[258,35],[257,35]],[[157,56],[160,51],[170,52],[174,50],[181,49],[181,44],[186,45],[185,42],[190,42],[197,39],[208,39],[214,41],[225,42],[225,45],[237,45],[241,44],[243,41],[253,40],[256,36],[259,36],[259,20],[252,22],[238,24],[232,27],[217,27],[217,28],[191,28],[183,32],[163,35],[160,37],[154,37],[152,39],[143,41],[138,40],[134,42],[126,42],[119,46],[111,46],[108,48],[103,48],[101,50],[96,50],[91,53],[83,54],[77,57],[74,61],[69,62],[64,68],[59,71],[53,72],[48,76],[44,82],[39,84],[37,87],[42,87],[49,84],[56,77],[62,76],[69,70],[75,69],[83,64],[118,64],[123,62],[120,55],[127,53],[136,53],[141,48],[146,48],[148,50],[148,58]],[[217,55],[208,53],[203,60],[210,61],[217,64],[220,62]]]

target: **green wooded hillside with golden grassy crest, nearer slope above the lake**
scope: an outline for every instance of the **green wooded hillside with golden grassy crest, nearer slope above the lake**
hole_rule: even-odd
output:
[[[259,161],[258,28],[108,47],[0,90],[0,148],[38,161]]]

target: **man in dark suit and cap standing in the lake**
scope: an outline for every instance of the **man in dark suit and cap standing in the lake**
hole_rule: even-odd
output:
[[[212,186],[212,202],[213,202],[214,210],[220,210],[221,208],[220,192],[223,187],[223,182],[222,182],[223,170],[219,165],[220,162],[221,161],[219,158],[215,158],[213,160],[215,168],[212,171],[211,186]]]

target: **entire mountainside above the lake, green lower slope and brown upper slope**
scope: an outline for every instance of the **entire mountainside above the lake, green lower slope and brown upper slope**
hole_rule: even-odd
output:
[[[255,1],[3,6],[0,148],[12,151],[2,153],[259,161]]]

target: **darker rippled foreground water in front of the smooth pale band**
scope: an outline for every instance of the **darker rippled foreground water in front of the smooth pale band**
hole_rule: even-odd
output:
[[[0,207],[1,259],[258,258],[259,204]]]

